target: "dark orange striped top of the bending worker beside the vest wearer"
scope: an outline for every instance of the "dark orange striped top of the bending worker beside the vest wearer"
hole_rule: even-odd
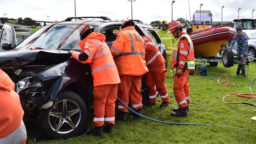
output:
[[[158,66],[160,66],[162,63],[165,63],[165,59],[163,58],[163,55],[156,47],[156,44],[147,36],[143,36],[142,39],[146,43],[146,54],[145,54],[145,60],[146,65],[148,67],[149,71],[154,71]],[[165,71],[166,69],[163,69]]]

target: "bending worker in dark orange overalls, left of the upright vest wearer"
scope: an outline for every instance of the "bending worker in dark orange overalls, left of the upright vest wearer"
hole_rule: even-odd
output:
[[[160,93],[162,103],[160,107],[167,107],[170,102],[168,91],[165,85],[165,59],[163,55],[156,47],[156,44],[147,36],[143,36],[142,39],[146,43],[145,60],[148,71],[145,74],[145,79],[148,86],[149,102],[146,106],[151,107],[156,105],[156,89]]]

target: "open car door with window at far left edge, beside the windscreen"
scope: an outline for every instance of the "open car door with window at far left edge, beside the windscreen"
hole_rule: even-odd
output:
[[[3,51],[2,44],[4,42],[9,42],[11,47],[16,46],[16,35],[15,30],[12,24],[5,23],[2,27],[2,31],[0,33],[0,51]]]

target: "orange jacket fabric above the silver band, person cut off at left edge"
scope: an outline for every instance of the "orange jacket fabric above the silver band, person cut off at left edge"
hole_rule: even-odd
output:
[[[21,126],[23,114],[13,81],[0,69],[0,138],[7,137]]]

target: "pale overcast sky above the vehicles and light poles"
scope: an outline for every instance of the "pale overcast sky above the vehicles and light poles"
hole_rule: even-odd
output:
[[[154,20],[171,21],[172,0],[136,0],[132,2],[133,19],[150,23]],[[8,18],[30,17],[33,20],[53,21],[74,17],[74,0],[0,0],[0,17],[7,14]],[[252,18],[252,9],[256,9],[256,0],[189,0],[191,19],[193,13],[200,9],[210,10],[213,21],[221,21],[221,7],[223,21],[238,18]],[[173,19],[189,18],[188,0],[175,0],[173,4]],[[256,11],[254,11],[256,18]],[[76,0],[76,16],[106,16],[111,19],[130,19],[131,2],[127,0]]]

